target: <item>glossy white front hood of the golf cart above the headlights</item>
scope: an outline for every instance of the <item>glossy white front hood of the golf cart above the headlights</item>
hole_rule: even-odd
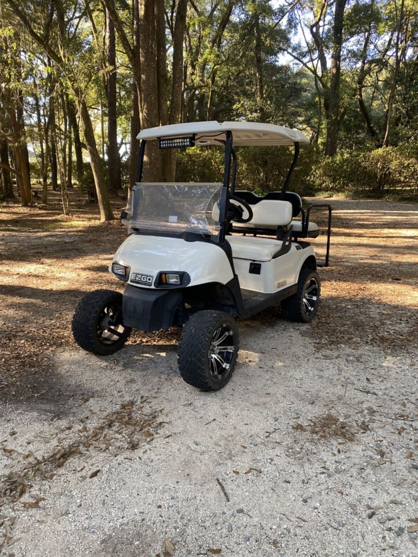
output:
[[[128,265],[130,275],[152,276],[152,284],[145,286],[152,289],[160,271],[187,272],[191,278],[188,286],[206,282],[226,284],[233,278],[230,262],[221,247],[209,242],[186,242],[181,238],[130,234],[116,251],[113,261]],[[130,280],[128,284],[139,286]]]

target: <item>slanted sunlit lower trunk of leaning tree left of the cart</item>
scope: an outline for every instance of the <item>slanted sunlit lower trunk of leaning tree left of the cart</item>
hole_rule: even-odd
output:
[[[81,95],[80,95],[81,96]],[[93,171],[94,183],[100,208],[100,220],[110,221],[114,218],[110,206],[109,192],[103,172],[103,162],[98,152],[96,138],[94,136],[93,124],[91,124],[89,109],[84,99],[79,100],[79,113],[84,131],[84,138],[90,157],[91,170]]]

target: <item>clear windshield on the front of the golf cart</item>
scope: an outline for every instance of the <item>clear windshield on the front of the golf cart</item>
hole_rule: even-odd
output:
[[[141,182],[132,188],[128,228],[217,234],[220,183]]]

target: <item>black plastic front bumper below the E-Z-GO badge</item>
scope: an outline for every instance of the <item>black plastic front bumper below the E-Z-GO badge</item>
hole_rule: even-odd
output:
[[[169,329],[182,293],[177,289],[148,289],[127,285],[123,293],[123,324],[141,331]]]

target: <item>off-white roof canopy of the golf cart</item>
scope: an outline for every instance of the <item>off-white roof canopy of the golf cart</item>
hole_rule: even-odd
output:
[[[307,136],[300,131],[283,126],[257,122],[223,122],[220,124],[216,120],[148,128],[140,131],[137,139],[151,140],[195,135],[196,145],[203,146],[219,144],[219,141],[222,140],[220,135],[226,131],[232,131],[235,146],[293,145],[295,141],[309,143]]]

